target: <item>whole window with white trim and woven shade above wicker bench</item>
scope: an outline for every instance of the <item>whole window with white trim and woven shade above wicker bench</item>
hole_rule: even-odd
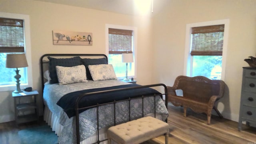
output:
[[[187,76],[224,79],[228,20],[187,25]]]

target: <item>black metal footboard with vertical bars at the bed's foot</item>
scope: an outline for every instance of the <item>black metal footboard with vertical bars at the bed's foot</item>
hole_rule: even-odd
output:
[[[80,130],[79,130],[79,110],[83,110],[83,109],[88,109],[88,108],[97,108],[97,142],[93,143],[93,144],[99,144],[100,142],[106,141],[105,140],[99,140],[99,106],[103,106],[106,104],[114,104],[114,125],[116,125],[116,103],[117,102],[123,102],[123,101],[129,101],[129,121],[131,120],[131,107],[130,107],[130,101],[134,100],[134,99],[142,99],[142,117],[144,117],[144,98],[146,97],[152,97],[152,96],[141,96],[138,98],[128,98],[126,100],[119,100],[119,101],[113,101],[113,102],[109,102],[109,103],[104,103],[104,104],[97,104],[94,106],[88,106],[88,107],[83,107],[83,108],[79,108],[79,102],[80,100],[85,97],[85,96],[89,96],[89,95],[96,95],[96,94],[103,94],[103,93],[109,93],[109,92],[118,92],[118,91],[122,91],[122,90],[132,90],[132,89],[139,89],[139,88],[150,88],[150,87],[156,87],[156,86],[163,86],[164,87],[164,94],[165,95],[165,106],[166,108],[168,107],[168,94],[167,94],[167,87],[165,84],[151,84],[151,85],[145,85],[145,86],[135,86],[135,87],[130,87],[130,88],[119,88],[119,89],[115,89],[115,90],[105,90],[105,91],[100,91],[100,92],[90,92],[90,93],[86,93],[83,94],[81,96],[79,96],[76,99],[76,107],[75,107],[75,111],[76,111],[76,143],[80,144]],[[154,117],[156,117],[156,94],[154,94]],[[167,122],[167,118],[166,118],[166,122]]]

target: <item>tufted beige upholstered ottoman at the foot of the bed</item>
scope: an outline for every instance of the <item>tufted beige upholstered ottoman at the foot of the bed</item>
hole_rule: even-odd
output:
[[[168,144],[169,125],[166,122],[147,116],[108,129],[108,144],[111,140],[118,144],[139,144],[165,134]]]

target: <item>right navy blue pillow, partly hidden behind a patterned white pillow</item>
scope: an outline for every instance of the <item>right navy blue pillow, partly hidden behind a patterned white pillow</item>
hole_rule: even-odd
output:
[[[82,61],[82,64],[84,64],[84,66],[86,68],[87,80],[92,80],[92,76],[90,74],[88,65],[108,64],[108,61],[106,58],[82,58],[81,61]]]

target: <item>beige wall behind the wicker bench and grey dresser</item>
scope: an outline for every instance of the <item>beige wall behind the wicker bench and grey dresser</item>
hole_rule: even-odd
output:
[[[238,121],[244,59],[256,54],[256,0],[171,0],[153,18],[154,82],[172,86],[184,73],[186,24],[229,19],[225,83],[218,109]]]

